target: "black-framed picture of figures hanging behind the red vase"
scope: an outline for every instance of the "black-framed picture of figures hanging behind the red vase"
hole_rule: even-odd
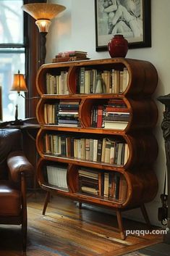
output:
[[[150,0],[95,0],[96,51],[122,34],[129,49],[151,46]]]

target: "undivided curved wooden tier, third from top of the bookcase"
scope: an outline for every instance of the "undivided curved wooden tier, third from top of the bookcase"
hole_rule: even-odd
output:
[[[55,160],[58,159],[58,161],[61,162],[69,162],[69,163],[75,163],[78,162],[78,164],[82,163],[83,165],[92,165],[92,167],[95,168],[96,165],[101,165],[101,168],[105,168],[106,165],[107,168],[121,168],[119,165],[111,165],[107,164],[106,162],[90,162],[86,160],[81,160],[80,158],[75,157],[67,157],[66,155],[59,154],[58,156],[55,156],[54,154],[46,154],[44,152],[44,136],[46,133],[49,134],[58,134],[58,135],[65,135],[64,131],[51,131],[46,129],[40,129],[37,134],[37,140],[36,140],[36,146],[38,149],[38,154],[41,155],[41,157],[44,157],[46,159]],[[80,135],[77,136],[77,133],[69,131],[69,136],[73,138],[80,138]],[[81,138],[85,138],[86,133],[81,133]],[[90,136],[89,138],[94,139],[97,138]],[[132,168],[133,166],[137,165],[152,165],[153,162],[155,162],[156,157],[158,155],[158,144],[156,141],[155,136],[153,136],[152,133],[149,131],[145,134],[143,134],[141,131],[134,134],[122,134],[122,135],[109,135],[108,137],[106,134],[98,135],[98,138],[109,138],[111,141],[119,141],[123,140],[125,143],[128,144],[129,147],[129,158],[123,168]],[[113,167],[114,166],[114,167]],[[99,167],[100,168],[100,167]]]

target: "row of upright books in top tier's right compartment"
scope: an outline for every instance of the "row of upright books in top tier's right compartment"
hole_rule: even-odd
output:
[[[80,67],[77,73],[78,94],[119,94],[129,83],[127,68],[123,70],[95,70]]]

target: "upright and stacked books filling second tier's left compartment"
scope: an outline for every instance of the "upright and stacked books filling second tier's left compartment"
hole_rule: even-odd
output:
[[[80,126],[79,104],[79,100],[60,100],[59,103],[44,104],[44,122],[60,126]]]

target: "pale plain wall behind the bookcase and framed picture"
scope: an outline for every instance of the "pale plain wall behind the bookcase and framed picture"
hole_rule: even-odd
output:
[[[109,58],[107,51],[95,51],[95,11],[93,0],[49,0],[51,3],[62,4],[67,9],[56,17],[47,35],[47,55],[46,62],[51,62],[59,51],[82,50],[88,51],[90,59]],[[169,94],[170,81],[170,1],[151,1],[151,30],[152,47],[144,49],[129,49],[128,58],[145,59],[153,63],[158,71],[158,87],[154,97]],[[159,145],[158,159],[155,170],[159,182],[157,197],[153,202],[146,205],[150,220],[155,225],[160,225],[157,220],[157,209],[160,205],[160,194],[163,191],[163,173],[165,170],[165,155],[163,137],[161,131],[161,120],[163,105],[158,104],[159,117],[155,129],[156,138]],[[143,221],[139,210],[132,210],[124,213],[124,216],[134,220]]]

